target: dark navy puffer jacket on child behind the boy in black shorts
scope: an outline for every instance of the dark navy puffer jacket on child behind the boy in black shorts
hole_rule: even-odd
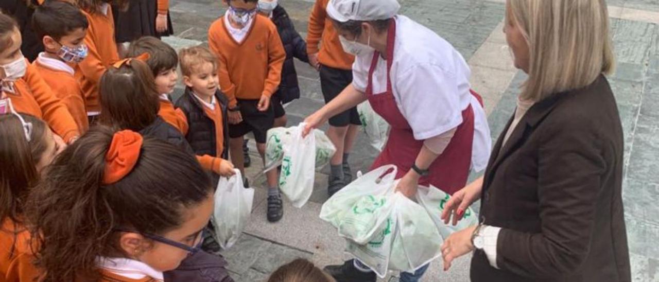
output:
[[[293,59],[297,58],[304,63],[309,63],[309,57],[306,54],[306,42],[297,33],[291,18],[281,5],[278,5],[272,11],[272,22],[277,26],[279,38],[281,38],[281,43],[286,51],[286,60],[283,67],[281,67],[279,89],[273,95],[277,95],[282,103],[288,103],[300,98],[300,86]]]

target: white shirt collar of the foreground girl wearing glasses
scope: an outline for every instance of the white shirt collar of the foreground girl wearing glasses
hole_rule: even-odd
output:
[[[163,273],[137,260],[129,258],[96,258],[96,265],[113,274],[130,279],[144,279],[151,277],[158,281],[164,281]]]

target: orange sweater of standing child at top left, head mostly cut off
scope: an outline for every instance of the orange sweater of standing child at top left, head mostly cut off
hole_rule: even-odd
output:
[[[117,42],[115,42],[115,23],[110,8],[107,9],[107,14],[80,11],[89,21],[87,36],[84,38],[89,53],[86,59],[77,65],[76,78],[80,81],[87,111],[98,112],[101,111],[98,94],[101,76],[112,63],[119,61]]]

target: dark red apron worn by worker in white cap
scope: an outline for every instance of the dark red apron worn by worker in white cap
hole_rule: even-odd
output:
[[[391,125],[389,140],[387,140],[382,154],[376,158],[371,169],[376,169],[382,165],[396,165],[398,167],[396,178],[399,179],[415,163],[416,157],[423,146],[423,140],[416,140],[414,138],[412,128],[399,111],[393,96],[389,73],[391,72],[391,64],[393,63],[395,34],[396,24],[395,20],[393,20],[389,27],[389,36],[387,38],[387,92],[373,94],[372,76],[380,59],[380,53],[376,51],[373,55],[370,70],[368,71],[366,96],[368,96],[368,101],[371,107],[373,107],[373,110]],[[473,91],[471,91],[471,94],[482,103],[478,94]],[[456,192],[467,184],[474,140],[474,112],[471,104],[467,109],[462,111],[462,119],[463,123],[457,127],[455,135],[451,138],[451,142],[444,150],[444,153],[430,165],[430,175],[420,179],[420,185],[427,186],[428,184],[432,184],[444,190],[444,192],[453,194],[453,192]]]

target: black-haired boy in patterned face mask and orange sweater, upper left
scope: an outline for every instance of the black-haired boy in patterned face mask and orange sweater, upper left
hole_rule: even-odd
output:
[[[73,67],[87,57],[83,40],[88,26],[80,9],[64,1],[43,3],[32,15],[32,27],[45,47],[33,64],[67,106],[81,133],[88,130],[89,123]]]

